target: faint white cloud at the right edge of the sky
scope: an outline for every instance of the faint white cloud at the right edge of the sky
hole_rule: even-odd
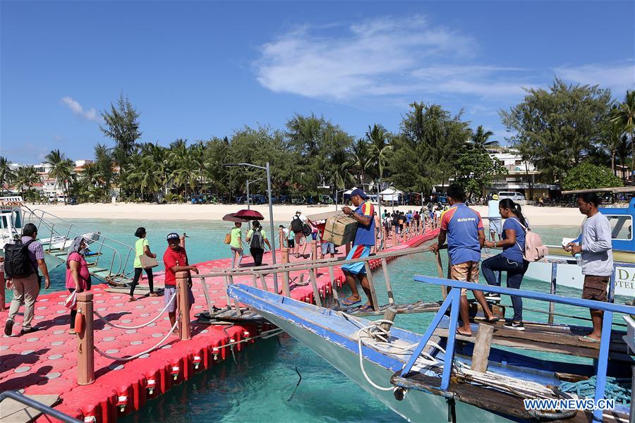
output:
[[[610,87],[614,94],[635,88],[635,63],[593,63],[583,66],[560,66],[553,70],[564,80]]]

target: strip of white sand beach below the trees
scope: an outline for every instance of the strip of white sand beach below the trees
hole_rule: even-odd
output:
[[[220,221],[225,214],[237,212],[246,208],[245,204],[33,204],[30,208],[42,209],[63,219],[132,219],[139,221],[193,221],[211,220]],[[269,207],[265,205],[251,206],[265,216],[269,216]],[[487,207],[476,206],[481,216],[487,216]],[[382,207],[382,210],[384,207]],[[392,207],[388,208],[392,210]],[[401,211],[415,209],[413,206],[395,207]],[[274,205],[275,221],[290,221],[296,210],[303,214],[317,214],[335,210],[334,205],[308,206],[308,205]],[[583,216],[578,209],[564,207],[523,207],[523,212],[532,226],[579,226]]]

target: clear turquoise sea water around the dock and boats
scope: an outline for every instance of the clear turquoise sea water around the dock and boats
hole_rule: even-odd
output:
[[[165,235],[174,231],[186,232],[188,256],[191,262],[202,262],[229,256],[223,238],[229,226],[208,221],[147,222],[106,221],[77,219],[77,223],[102,231],[111,238],[133,244],[133,233],[139,224],[148,231],[152,251],[159,257],[165,250]],[[277,225],[276,225],[277,227]],[[560,243],[564,236],[573,236],[577,226],[567,228],[540,228],[545,243]],[[445,262],[445,259],[444,259]],[[407,256],[389,264],[392,288],[397,303],[416,300],[440,299],[440,289],[413,281],[415,274],[436,275],[436,264],[430,253]],[[63,289],[63,266],[52,271],[52,290]],[[382,272],[374,274],[380,303],[387,302],[385,281]],[[548,292],[547,283],[526,279],[524,289]],[[580,291],[559,287],[560,295],[579,297]],[[509,304],[509,299],[503,300]],[[526,300],[525,308],[546,310],[546,303]],[[511,308],[510,308],[511,310]],[[581,314],[585,310],[558,306],[557,312]],[[413,331],[423,332],[432,319],[432,314],[398,314],[397,325]],[[546,315],[524,312],[524,318],[546,321]],[[557,322],[586,324],[576,319],[556,317]],[[617,321],[617,320],[616,320]],[[185,384],[173,388],[166,395],[151,400],[144,410],[135,413],[124,422],[398,422],[401,418],[382,403],[369,396],[361,388],[333,369],[325,360],[317,357],[304,345],[286,335],[258,341],[250,347],[214,366],[204,374],[198,374]],[[257,348],[257,349],[256,349]],[[572,357],[567,356],[567,360]],[[583,359],[579,359],[583,362]],[[298,372],[302,375],[298,382]]]

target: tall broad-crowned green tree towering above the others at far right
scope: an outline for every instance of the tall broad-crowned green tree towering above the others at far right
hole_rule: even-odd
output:
[[[514,147],[531,150],[533,164],[558,179],[579,164],[602,137],[611,105],[610,90],[597,85],[567,85],[555,78],[548,90],[531,88],[523,102],[501,110],[514,133]]]

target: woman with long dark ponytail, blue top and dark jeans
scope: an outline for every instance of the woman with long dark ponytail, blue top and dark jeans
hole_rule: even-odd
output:
[[[505,219],[502,227],[502,240],[485,241],[485,247],[502,247],[503,252],[485,259],[481,269],[483,269],[483,276],[485,276],[485,281],[488,281],[488,285],[500,286],[497,272],[507,271],[507,288],[520,289],[523,276],[529,266],[529,262],[523,258],[525,228],[528,227],[528,223],[521,212],[520,204],[516,204],[509,198],[501,200],[498,209],[500,216]],[[491,221],[492,219],[490,219]],[[498,294],[493,296],[500,299]],[[512,295],[512,306],[514,307],[514,319],[504,324],[504,327],[524,331],[523,299]]]

